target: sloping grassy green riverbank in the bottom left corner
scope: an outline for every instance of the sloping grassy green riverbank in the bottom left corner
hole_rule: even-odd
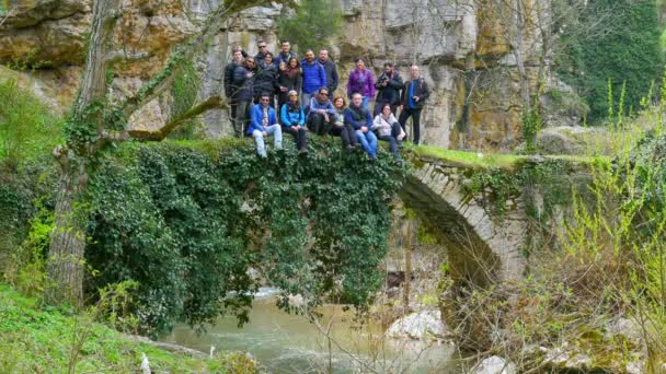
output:
[[[225,373],[238,361],[246,361],[241,355],[208,359],[205,354],[168,352],[94,323],[84,314],[43,307],[36,299],[0,284],[2,373],[140,373],[146,365],[143,357],[153,373]],[[253,361],[243,363],[253,365]]]

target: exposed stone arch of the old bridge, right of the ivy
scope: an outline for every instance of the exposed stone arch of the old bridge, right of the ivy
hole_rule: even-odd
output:
[[[504,213],[498,217],[494,206],[497,202],[493,201],[490,188],[475,194],[468,188],[472,176],[483,168],[415,152],[405,153],[413,162],[414,171],[407,176],[400,196],[405,206],[428,222],[433,234],[447,247],[453,279],[483,285],[521,278],[526,266],[524,253],[529,248],[530,239],[541,234],[529,232],[526,195],[529,195],[531,208],[536,203],[536,209],[542,210],[540,183],[503,199]],[[519,167],[548,161],[521,159]],[[509,179],[516,173],[501,170],[504,172],[509,174]],[[566,173],[577,173],[577,167],[567,167],[563,174]],[[555,221],[559,222],[552,220],[550,224]]]

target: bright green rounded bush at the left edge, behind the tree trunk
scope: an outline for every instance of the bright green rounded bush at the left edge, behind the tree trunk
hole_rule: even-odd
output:
[[[13,79],[0,82],[0,162],[11,168],[34,161],[58,141],[59,124]]]

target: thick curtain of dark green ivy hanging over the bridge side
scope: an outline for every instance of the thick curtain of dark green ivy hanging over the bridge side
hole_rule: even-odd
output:
[[[223,313],[246,320],[257,287],[250,267],[311,306],[341,292],[338,283],[366,303],[381,283],[376,269],[400,170],[388,156],[369,162],[338,145],[318,139],[298,157],[289,144],[267,161],[244,141],[130,145],[122,159],[108,155],[89,188],[85,257],[100,270],[89,292],[137,281],[135,314],[148,331],[175,320],[202,326]]]

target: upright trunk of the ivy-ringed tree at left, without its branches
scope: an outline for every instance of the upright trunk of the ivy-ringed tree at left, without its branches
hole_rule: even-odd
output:
[[[103,130],[101,113],[90,108],[93,103],[103,103],[105,98],[107,56],[119,8],[120,0],[93,1],[88,63],[73,115],[69,118],[73,122],[72,127],[92,127],[97,133]],[[97,151],[97,145],[90,139],[78,138],[71,139],[66,147],[54,150],[54,156],[60,163],[61,174],[47,265],[49,282],[45,296],[49,303],[82,303],[85,218],[76,202],[88,185],[88,161],[94,157]]]

